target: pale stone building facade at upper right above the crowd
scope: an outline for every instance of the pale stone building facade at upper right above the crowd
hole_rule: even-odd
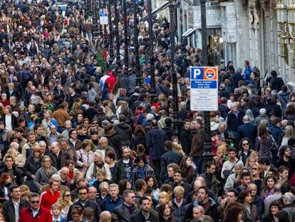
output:
[[[279,19],[276,18],[278,2],[284,4]],[[269,74],[271,70],[276,70],[284,81],[294,81],[295,86],[295,30],[292,26],[295,21],[290,21],[295,19],[295,8],[292,11],[295,4],[292,5],[292,2],[208,1],[207,40],[209,55],[213,54],[214,64],[226,65],[228,61],[234,61],[235,66],[244,68],[244,60],[249,60],[252,67],[257,66],[260,69],[262,77],[266,72]],[[201,48],[200,2],[196,0],[189,4],[183,1],[181,11],[182,29],[196,30],[195,34],[189,37],[189,43]],[[284,24],[284,31],[278,24],[281,17],[288,20]]]

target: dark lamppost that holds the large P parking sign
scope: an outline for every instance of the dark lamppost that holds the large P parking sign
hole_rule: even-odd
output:
[[[207,21],[206,21],[206,0],[200,0],[201,4],[201,29],[202,29],[202,61],[203,66],[208,64],[208,50],[207,50]],[[205,161],[212,161],[213,155],[211,153],[211,126],[209,111],[204,111],[205,121],[205,152],[203,158]]]

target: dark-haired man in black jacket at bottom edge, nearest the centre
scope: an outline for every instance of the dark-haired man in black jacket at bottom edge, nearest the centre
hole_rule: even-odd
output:
[[[160,222],[159,216],[152,211],[152,203],[150,199],[146,196],[143,196],[140,199],[141,210],[136,211],[130,218],[130,222]]]

